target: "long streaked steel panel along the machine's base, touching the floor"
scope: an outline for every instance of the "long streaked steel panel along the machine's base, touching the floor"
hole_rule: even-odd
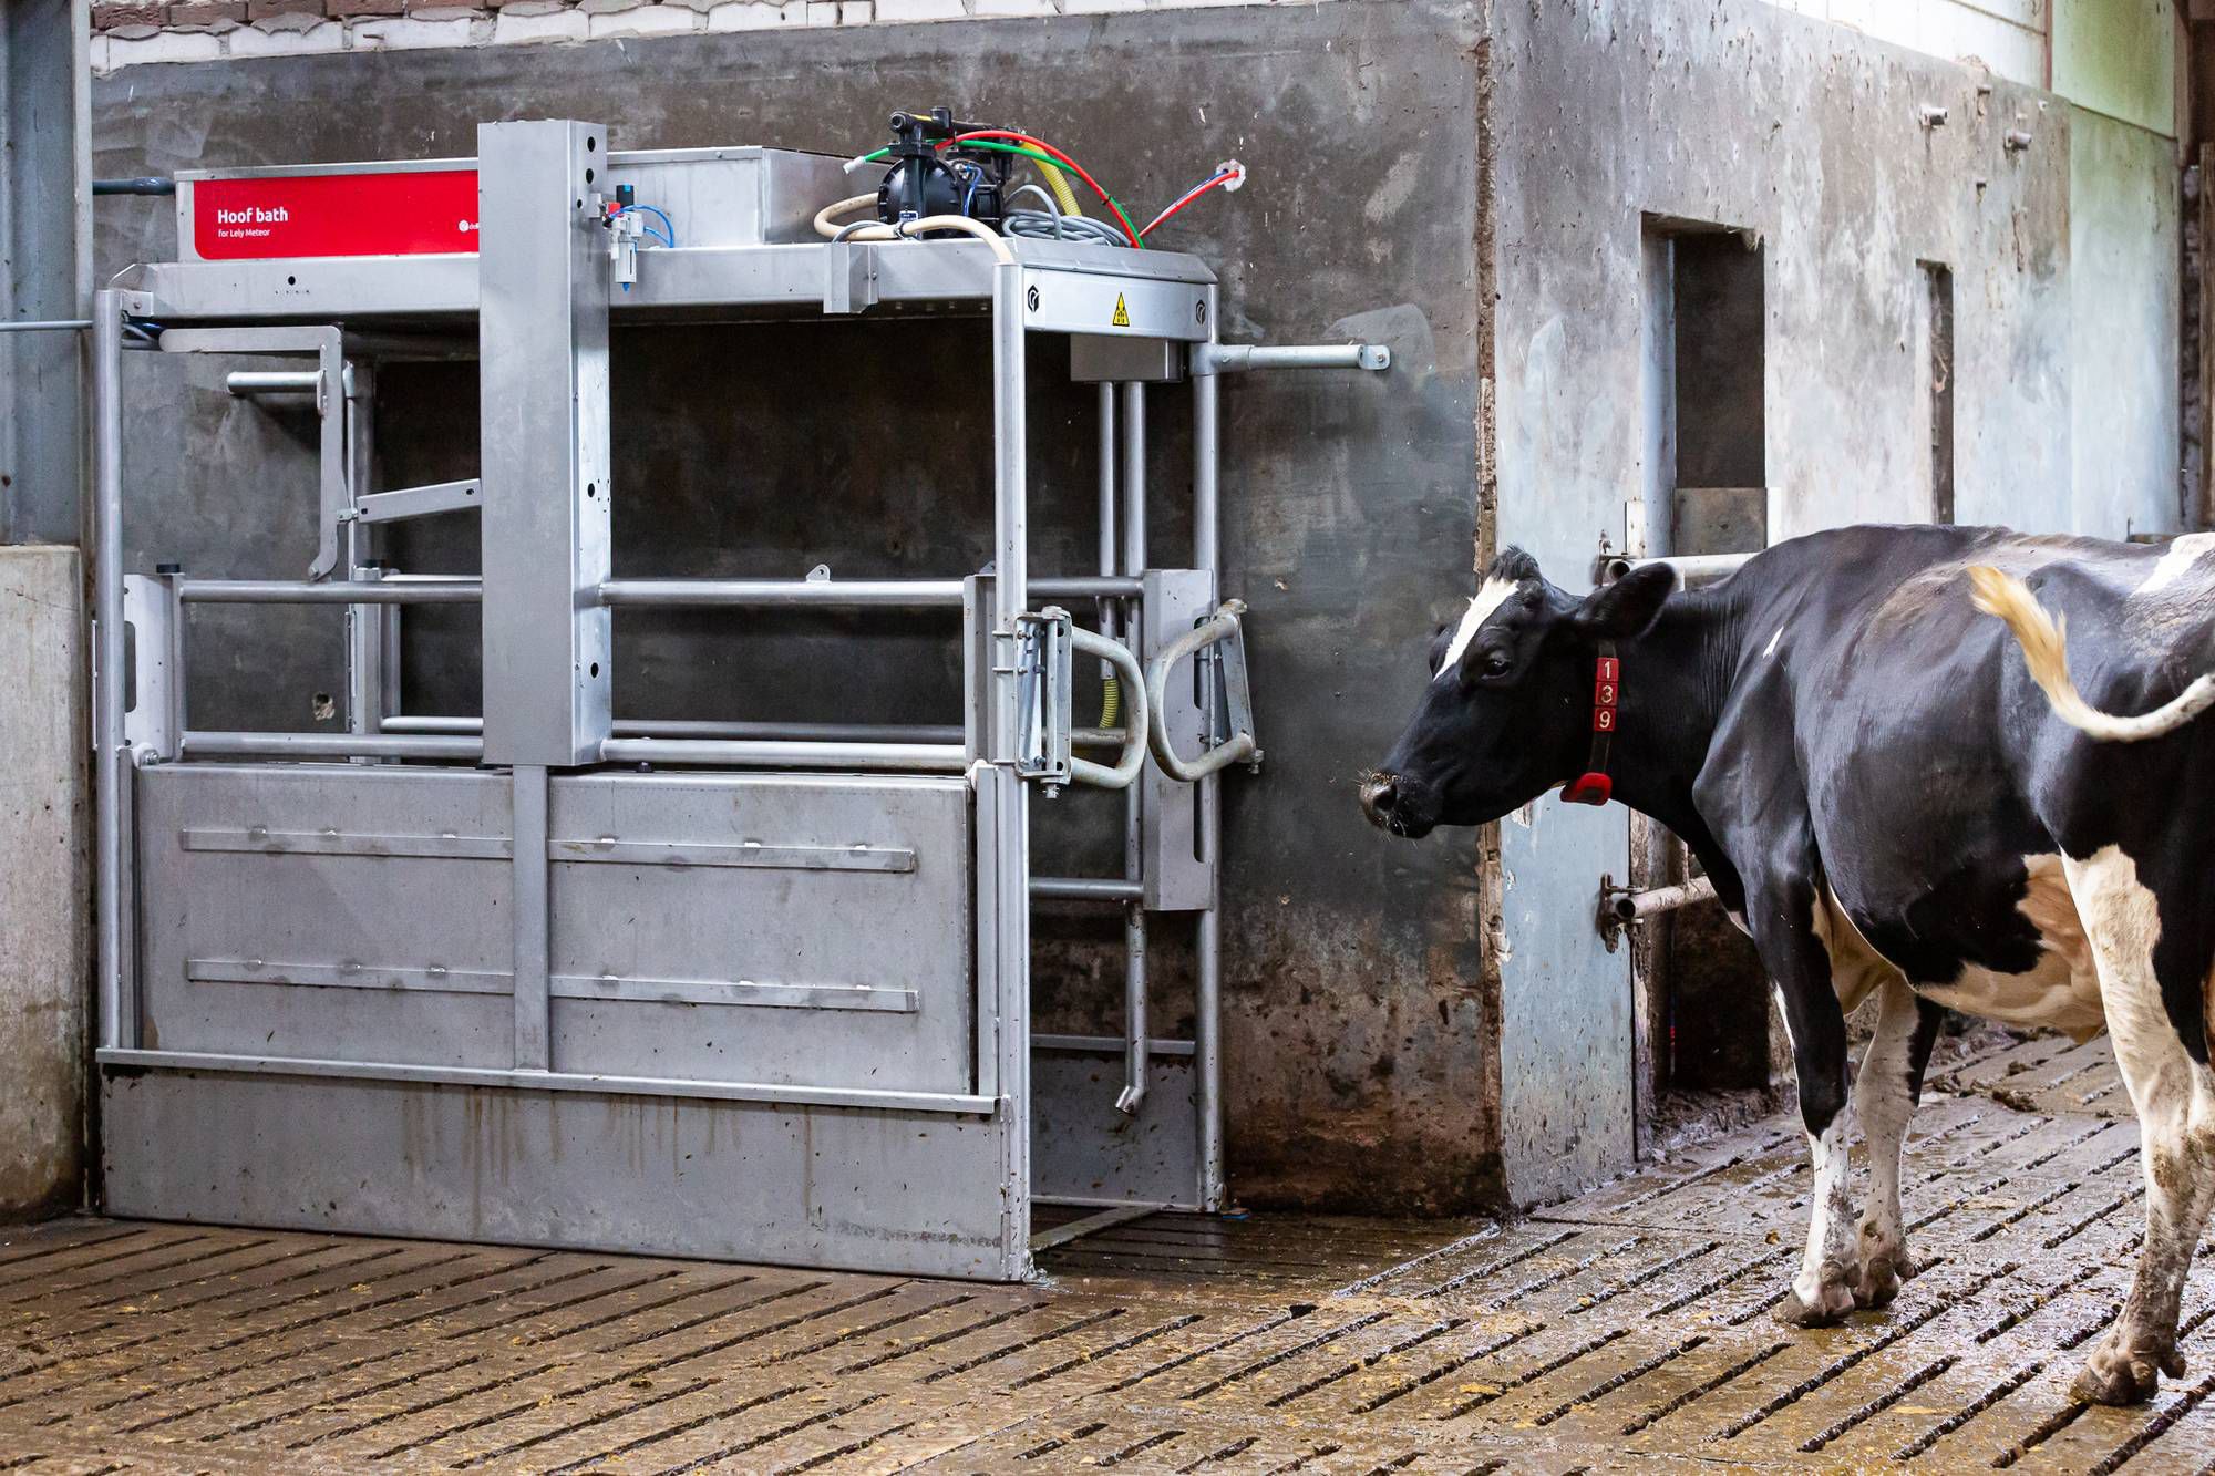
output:
[[[423,1082],[102,1068],[106,1210],[1010,1281],[1006,1126]]]

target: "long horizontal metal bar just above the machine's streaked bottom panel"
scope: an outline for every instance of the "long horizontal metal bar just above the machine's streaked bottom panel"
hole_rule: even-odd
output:
[[[950,1113],[990,1117],[990,1097],[957,1093],[884,1093],[857,1086],[782,1086],[775,1082],[684,1082],[669,1077],[596,1077],[574,1070],[501,1070],[481,1066],[403,1066],[399,1062],[319,1062],[206,1050],[100,1050],[100,1066],[126,1070],[208,1070],[248,1077],[334,1077],[341,1082],[423,1082],[494,1086],[529,1093],[598,1093],[607,1097],[696,1097],[775,1106],[868,1108],[877,1113]]]

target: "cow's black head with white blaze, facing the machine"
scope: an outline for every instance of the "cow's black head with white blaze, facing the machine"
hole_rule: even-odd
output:
[[[1586,596],[1546,583],[1511,547],[1453,625],[1431,638],[1431,678],[1362,809],[1393,836],[1484,824],[1584,773],[1593,749],[1593,660],[1630,640],[1675,585],[1663,565]]]

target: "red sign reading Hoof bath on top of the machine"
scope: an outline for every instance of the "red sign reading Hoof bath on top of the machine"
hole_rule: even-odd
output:
[[[193,182],[204,262],[476,250],[476,171],[250,175]]]

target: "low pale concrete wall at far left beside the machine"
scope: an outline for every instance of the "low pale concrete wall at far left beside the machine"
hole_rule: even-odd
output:
[[[78,1203],[91,791],[78,550],[0,547],[0,1219]]]

